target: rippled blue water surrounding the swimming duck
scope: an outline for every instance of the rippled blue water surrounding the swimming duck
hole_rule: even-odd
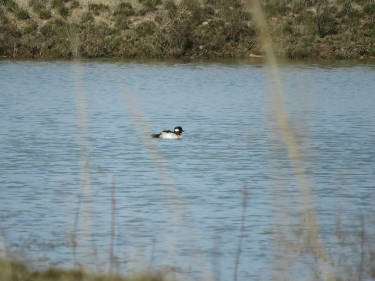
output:
[[[279,71],[336,257],[336,219],[374,212],[375,64],[297,62]],[[304,206],[263,63],[2,60],[0,77],[7,251],[72,265],[75,229],[77,259],[107,270],[113,191],[122,271],[152,260],[189,278],[231,280],[245,185],[239,280],[279,277],[282,263],[292,264],[286,276],[310,275],[312,259],[276,258],[278,234],[298,227]],[[175,126],[183,139],[149,138]]]

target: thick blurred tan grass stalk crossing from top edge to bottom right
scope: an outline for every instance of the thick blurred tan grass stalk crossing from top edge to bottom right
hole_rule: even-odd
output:
[[[309,243],[312,247],[312,253],[318,262],[319,270],[323,275],[324,280],[333,278],[333,271],[330,266],[330,259],[327,255],[327,250],[320,238],[320,229],[317,225],[315,217],[314,202],[312,200],[309,183],[306,179],[303,161],[300,150],[291,128],[290,120],[283,102],[282,83],[279,76],[278,66],[276,62],[275,52],[272,48],[271,37],[269,36],[269,28],[267,26],[266,17],[260,6],[260,0],[247,0],[248,7],[252,10],[255,24],[260,30],[260,41],[266,53],[266,65],[268,67],[268,85],[269,93],[272,100],[273,114],[275,114],[278,123],[279,132],[287,149],[289,159],[294,168],[294,173],[297,179],[298,187],[301,191],[300,204],[303,206],[303,215],[306,228],[308,231]],[[286,217],[286,214],[284,214]],[[283,256],[283,251],[278,253],[278,257]],[[278,260],[276,263],[283,262]],[[279,279],[279,278],[276,278]],[[282,278],[280,278],[282,279]]]

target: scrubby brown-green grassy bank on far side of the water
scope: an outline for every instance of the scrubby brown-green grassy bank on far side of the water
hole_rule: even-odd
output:
[[[262,0],[277,55],[375,56],[372,0]],[[237,0],[0,0],[0,56],[202,58],[263,55]]]

